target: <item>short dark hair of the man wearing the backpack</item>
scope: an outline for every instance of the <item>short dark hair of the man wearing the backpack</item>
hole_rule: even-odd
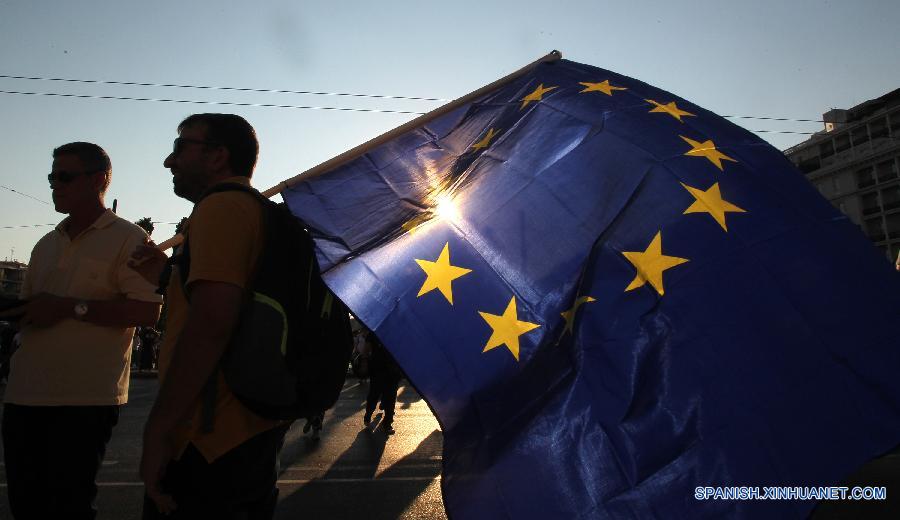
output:
[[[206,127],[206,138],[228,150],[228,165],[232,173],[252,177],[259,156],[256,131],[241,116],[235,114],[194,114],[178,125],[178,131],[195,125]]]

